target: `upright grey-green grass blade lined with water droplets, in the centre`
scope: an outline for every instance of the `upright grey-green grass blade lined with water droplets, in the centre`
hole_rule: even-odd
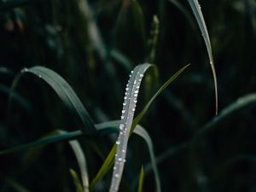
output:
[[[123,109],[121,112],[121,122],[119,125],[119,138],[116,142],[117,152],[115,154],[113,176],[110,185],[110,192],[119,190],[119,184],[125,167],[125,157],[128,139],[131,131],[131,125],[135,109],[137,106],[137,96],[139,88],[143,79],[144,73],[151,65],[143,64],[139,65],[131,71],[130,79],[125,88],[125,98],[123,103]]]

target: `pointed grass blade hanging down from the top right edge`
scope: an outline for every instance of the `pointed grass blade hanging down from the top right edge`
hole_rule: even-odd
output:
[[[198,3],[198,1],[197,0],[188,0],[188,1],[189,1],[189,5],[190,5],[191,9],[193,10],[195,19],[197,21],[198,26],[200,27],[201,34],[202,34],[205,44],[207,46],[207,52],[208,52],[208,56],[209,56],[209,60],[210,60],[210,65],[212,67],[212,75],[213,75],[213,81],[214,81],[214,86],[215,86],[215,110],[216,110],[216,114],[217,114],[218,113],[218,84],[217,84],[216,71],[215,71],[215,67],[214,67],[214,61],[213,61],[213,57],[212,57],[212,46],[211,46],[208,31],[207,31],[207,25],[206,25],[203,15],[202,15],[201,6]]]

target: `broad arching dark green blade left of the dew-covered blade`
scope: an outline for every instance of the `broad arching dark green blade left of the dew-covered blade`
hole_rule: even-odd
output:
[[[84,123],[84,127],[81,130],[84,133],[89,131],[91,135],[96,135],[96,127],[89,113],[65,79],[62,79],[59,74],[46,67],[25,68],[22,70],[22,73],[32,73],[49,84],[55,90],[55,93],[60,96],[67,108],[72,113],[79,115],[79,118]]]

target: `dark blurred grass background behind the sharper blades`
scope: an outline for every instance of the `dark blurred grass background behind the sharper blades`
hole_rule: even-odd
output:
[[[212,42],[221,111],[255,92],[256,2],[201,1],[201,9]],[[155,57],[149,57],[154,47],[148,43],[154,15],[159,20],[158,39]],[[162,157],[187,142],[214,116],[207,49],[187,1],[0,0],[0,148],[36,140],[55,129],[74,131],[80,126],[55,92],[30,75],[22,78],[9,106],[11,84],[23,67],[41,65],[61,74],[92,119],[101,123],[119,119],[128,74],[145,61],[159,68],[159,84],[191,63],[142,122],[156,156]],[[143,87],[139,102],[147,101],[153,94],[149,91]],[[159,164],[162,190],[256,191],[255,114],[253,104],[242,108],[190,148],[166,155]],[[90,179],[113,138],[96,140],[102,156],[90,139],[80,139]],[[127,183],[137,179],[140,165],[149,160],[139,138],[131,137],[129,148]],[[22,191],[20,185],[23,191],[74,191],[69,168],[79,169],[67,143],[3,155],[0,167],[1,192]],[[95,191],[108,190],[108,177]],[[120,191],[131,191],[125,186]],[[152,172],[145,175],[144,188],[154,191]]]

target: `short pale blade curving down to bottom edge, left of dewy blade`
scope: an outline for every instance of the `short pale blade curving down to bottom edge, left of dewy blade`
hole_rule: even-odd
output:
[[[58,131],[58,133],[60,135],[65,135],[67,134],[67,131]],[[73,153],[75,154],[76,159],[79,163],[79,169],[81,173],[84,192],[89,192],[89,174],[83,149],[81,148],[79,142],[76,140],[70,141],[69,144],[73,149]]]

